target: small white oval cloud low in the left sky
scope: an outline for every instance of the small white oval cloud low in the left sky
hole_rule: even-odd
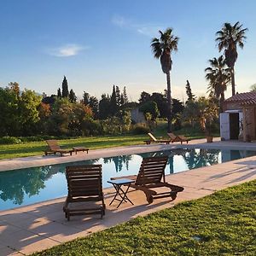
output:
[[[88,49],[88,47],[79,45],[79,44],[65,44],[60,47],[48,49],[48,54],[56,57],[70,57],[74,55],[79,55],[79,53]]]

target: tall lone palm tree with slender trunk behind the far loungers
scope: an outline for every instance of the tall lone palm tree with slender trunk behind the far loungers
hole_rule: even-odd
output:
[[[151,48],[154,57],[160,59],[163,73],[166,73],[167,80],[167,102],[168,102],[168,132],[172,131],[172,97],[171,97],[171,70],[172,51],[177,51],[178,38],[172,34],[172,28],[166,28],[165,32],[160,32],[160,38],[153,38]]]

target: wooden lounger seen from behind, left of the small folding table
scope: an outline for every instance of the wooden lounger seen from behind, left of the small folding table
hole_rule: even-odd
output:
[[[66,177],[68,194],[63,211],[67,220],[70,216],[87,214],[100,214],[102,218],[106,208],[102,192],[102,165],[67,166]],[[96,204],[98,201],[101,203]],[[83,205],[69,207],[71,203]]]

